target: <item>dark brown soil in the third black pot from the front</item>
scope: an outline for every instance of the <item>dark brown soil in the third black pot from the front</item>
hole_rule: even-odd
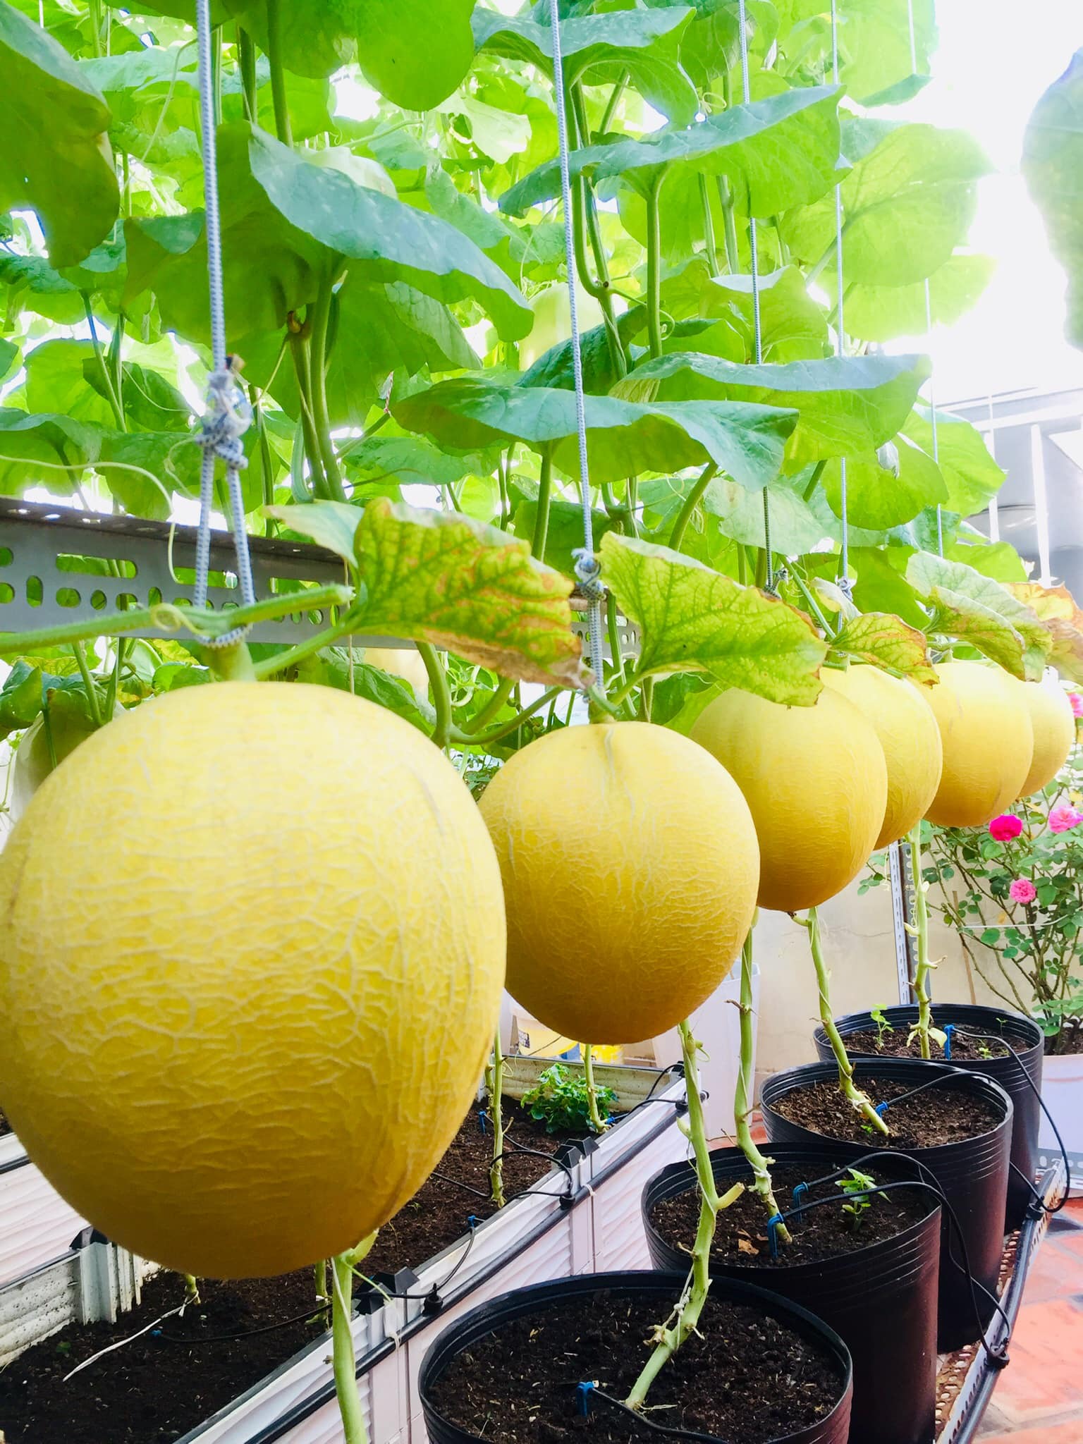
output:
[[[856,1082],[874,1103],[891,1102],[911,1090],[910,1083],[900,1083],[897,1079],[862,1077]],[[888,1108],[885,1122],[891,1129],[890,1138],[864,1122],[835,1082],[794,1089],[773,1108],[783,1118],[814,1134],[868,1144],[871,1148],[936,1148],[940,1144],[957,1144],[965,1138],[980,1138],[1004,1118],[993,1103],[973,1093],[963,1093],[950,1083],[927,1087]]]

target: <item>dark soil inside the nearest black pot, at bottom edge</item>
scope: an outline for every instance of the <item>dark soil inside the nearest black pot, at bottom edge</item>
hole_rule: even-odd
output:
[[[656,1430],[604,1401],[579,1418],[576,1383],[596,1380],[624,1399],[664,1313],[657,1297],[621,1292],[557,1301],[471,1344],[438,1380],[433,1399],[487,1444],[657,1444]],[[651,1388],[657,1424],[767,1444],[823,1418],[842,1393],[838,1362],[760,1310],[712,1294],[699,1330]]]

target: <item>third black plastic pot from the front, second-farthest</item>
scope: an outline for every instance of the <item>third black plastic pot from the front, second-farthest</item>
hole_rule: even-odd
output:
[[[1012,1138],[1012,1100],[992,1079],[982,1073],[963,1073],[943,1063],[923,1063],[915,1058],[855,1058],[856,1082],[868,1077],[897,1079],[911,1087],[941,1074],[943,1087],[956,1087],[988,1099],[1002,1109],[1001,1122],[988,1134],[966,1138],[959,1144],[939,1144],[933,1148],[913,1148],[911,1158],[921,1162],[940,1184],[947,1204],[959,1220],[966,1256],[978,1284],[996,1294],[1004,1255],[1004,1219],[1008,1197],[1008,1164]],[[819,1144],[816,1134],[800,1123],[791,1123],[775,1110],[787,1093],[810,1083],[826,1083],[838,1077],[833,1063],[806,1063],[800,1069],[775,1073],[764,1083],[762,1113],[767,1136],[773,1144]],[[875,1145],[874,1145],[875,1147]],[[832,1141],[832,1152],[842,1161],[866,1154],[866,1144]],[[947,1210],[944,1210],[947,1213]],[[947,1217],[940,1232],[940,1289],[937,1347],[941,1353],[973,1343],[993,1314],[993,1301],[978,1289],[978,1311],[970,1291],[970,1279],[962,1266],[962,1251]],[[980,1320],[980,1323],[979,1323]]]

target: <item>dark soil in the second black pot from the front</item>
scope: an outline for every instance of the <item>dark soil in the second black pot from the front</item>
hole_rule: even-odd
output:
[[[775,1201],[783,1213],[794,1207],[793,1190],[797,1184],[809,1183],[810,1175],[822,1175],[830,1170],[825,1165],[814,1168],[774,1168]],[[872,1167],[864,1168],[874,1183],[887,1183],[887,1178],[877,1177]],[[849,1178],[849,1174],[846,1174]],[[728,1187],[725,1183],[723,1187]],[[790,1268],[794,1264],[814,1264],[819,1259],[838,1258],[842,1253],[855,1253],[868,1248],[869,1243],[879,1243],[882,1239],[892,1239],[902,1233],[911,1223],[928,1216],[933,1207],[927,1194],[915,1190],[897,1188],[892,1193],[874,1196],[868,1200],[868,1207],[859,1210],[855,1220],[852,1213],[845,1213],[846,1196],[838,1183],[814,1184],[807,1194],[801,1194],[801,1201],[816,1199],[836,1199],[838,1206],[822,1204],[809,1209],[800,1219],[790,1219],[787,1229],[791,1242],[778,1249],[778,1258],[771,1258],[767,1242],[764,1204],[758,1193],[745,1188],[741,1197],[723,1209],[718,1216],[715,1242],[710,1246],[710,1256],[729,1265],[744,1268]],[[651,1209],[651,1223],[658,1233],[679,1248],[692,1249],[699,1223],[699,1193],[689,1188],[673,1199],[663,1199]],[[770,1288],[770,1285],[765,1285]]]

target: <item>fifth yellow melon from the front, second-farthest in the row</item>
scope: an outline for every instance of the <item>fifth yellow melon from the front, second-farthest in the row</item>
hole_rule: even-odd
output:
[[[1019,683],[983,661],[941,661],[927,692],[944,767],[926,817],[941,827],[980,827],[1019,796],[1034,729]]]

